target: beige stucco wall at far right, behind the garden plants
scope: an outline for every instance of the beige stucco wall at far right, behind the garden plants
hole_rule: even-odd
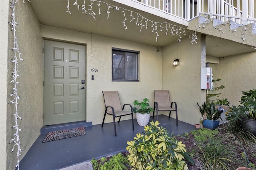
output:
[[[239,105],[242,91],[256,89],[256,52],[220,58],[216,75],[224,85],[219,99],[228,98],[231,105]],[[217,82],[218,83],[218,82]],[[230,106],[231,106],[230,105]]]

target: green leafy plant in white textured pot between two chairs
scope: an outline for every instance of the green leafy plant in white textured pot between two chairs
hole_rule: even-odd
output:
[[[147,98],[143,99],[142,102],[135,100],[133,102],[134,107],[132,107],[133,113],[136,113],[136,120],[140,126],[148,125],[150,112],[154,111],[153,108],[149,107],[149,100]],[[139,106],[138,109],[136,106]]]

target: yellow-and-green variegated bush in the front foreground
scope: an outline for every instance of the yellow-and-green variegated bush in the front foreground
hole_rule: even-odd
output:
[[[194,161],[186,153],[185,145],[158,125],[158,121],[150,122],[150,126],[145,126],[144,134],[139,133],[133,141],[127,142],[132,170],[187,170],[184,157]]]

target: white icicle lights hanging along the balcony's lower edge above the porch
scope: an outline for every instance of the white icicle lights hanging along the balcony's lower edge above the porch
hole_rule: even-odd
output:
[[[68,13],[72,14],[70,12],[70,0],[68,1]],[[122,10],[122,15],[124,16],[124,20],[122,21],[122,24],[125,28],[125,30],[127,30],[127,25],[126,22],[128,22],[128,20],[130,20],[130,22],[135,22],[136,26],[140,26],[140,32],[142,32],[143,28],[148,28],[151,25],[152,28],[152,33],[156,34],[156,42],[158,40],[158,31],[162,32],[165,31],[165,35],[168,35],[168,33],[171,36],[179,36],[179,39],[177,40],[178,42],[181,42],[182,36],[185,36],[185,28],[182,28],[180,26],[176,26],[176,25],[172,25],[168,22],[154,22],[152,20],[149,20],[147,18],[145,18],[144,16],[142,16],[141,14],[139,14],[138,12],[134,12],[131,10],[127,10],[125,8],[119,7],[119,6],[113,6],[111,4],[108,4],[106,2],[102,2],[100,0],[90,0],[91,4],[87,6],[85,5],[85,1],[84,0],[84,4],[78,4],[77,0],[74,0],[75,2],[73,3],[74,6],[76,6],[76,8],[79,10],[80,6],[82,8],[83,13],[88,14],[90,16],[92,16],[93,19],[96,20],[96,13],[92,10],[92,6],[98,6],[98,15],[101,15],[100,12],[100,8],[102,6],[102,4],[106,5],[108,7],[108,10],[106,11],[108,17],[110,16],[110,9],[114,8],[116,9],[116,11],[120,11]]]

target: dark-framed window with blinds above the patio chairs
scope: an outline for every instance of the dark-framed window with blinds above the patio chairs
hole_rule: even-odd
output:
[[[138,81],[138,53],[112,48],[112,81]]]

